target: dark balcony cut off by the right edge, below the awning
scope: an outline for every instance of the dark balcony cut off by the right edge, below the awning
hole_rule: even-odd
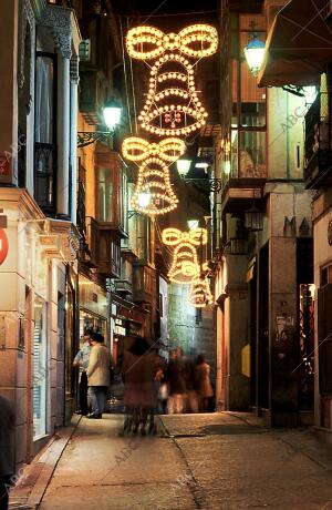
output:
[[[315,190],[332,184],[332,93],[321,93],[305,115],[304,181]]]

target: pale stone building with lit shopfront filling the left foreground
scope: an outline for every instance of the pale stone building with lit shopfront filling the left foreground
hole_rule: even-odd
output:
[[[29,461],[71,414],[80,235],[75,227],[77,58],[73,10],[2,2],[1,394],[17,414],[15,461]],[[6,253],[3,252],[6,248]]]

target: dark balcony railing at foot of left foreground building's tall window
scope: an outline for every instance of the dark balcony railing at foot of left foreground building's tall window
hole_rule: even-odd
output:
[[[56,145],[34,144],[34,198],[46,214],[56,211]]]

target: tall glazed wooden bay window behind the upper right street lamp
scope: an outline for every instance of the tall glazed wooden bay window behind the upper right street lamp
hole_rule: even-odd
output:
[[[229,112],[225,112],[224,176],[263,178],[266,164],[266,89],[257,86],[243,58],[243,48],[248,44],[252,23],[260,40],[266,39],[264,17],[239,16],[230,19],[228,34],[229,52],[224,53],[226,73],[222,95],[229,98]],[[230,60],[229,60],[230,55]]]

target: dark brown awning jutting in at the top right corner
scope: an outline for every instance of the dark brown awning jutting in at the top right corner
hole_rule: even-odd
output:
[[[332,61],[329,6],[326,0],[291,0],[278,12],[268,34],[259,86],[319,82]]]

